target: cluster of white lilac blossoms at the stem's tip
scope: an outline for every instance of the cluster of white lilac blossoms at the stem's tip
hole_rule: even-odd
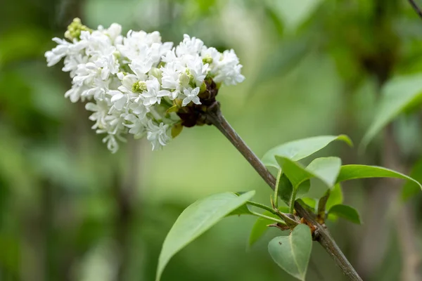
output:
[[[245,79],[233,50],[220,53],[186,34],[174,47],[162,43],[159,32],[121,32],[116,23],[90,30],[75,19],[65,33],[68,40],[53,38],[58,45],[45,53],[48,66],[64,58],[63,71],[72,78],[65,97],[88,101],[92,129],[106,134],[103,142],[112,152],[127,133],[146,136],[153,150],[162,148],[181,122],[177,108],[201,103],[205,79],[216,84]]]

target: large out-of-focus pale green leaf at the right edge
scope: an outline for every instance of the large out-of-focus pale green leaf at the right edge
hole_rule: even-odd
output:
[[[381,100],[371,126],[362,139],[364,148],[385,125],[397,115],[421,103],[422,74],[396,77],[388,81],[381,89]]]

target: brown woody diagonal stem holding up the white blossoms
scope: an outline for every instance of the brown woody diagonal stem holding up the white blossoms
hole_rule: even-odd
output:
[[[267,167],[261,162],[261,160],[255,155],[252,150],[246,145],[240,136],[234,131],[230,126],[229,122],[224,118],[222,112],[219,110],[219,105],[217,104],[214,110],[210,110],[205,113],[207,120],[219,129],[220,132],[229,139],[229,141],[234,145],[234,147],[241,152],[243,157],[248,160],[249,164],[257,171],[257,173],[264,179],[264,181],[275,190],[276,188],[276,178],[268,171]],[[331,258],[335,261],[336,265],[343,271],[348,280],[352,281],[362,281],[361,277],[354,270],[352,264],[347,261],[345,255],[340,250],[338,245],[331,237],[328,230],[321,226],[318,221],[315,219],[315,215],[309,213],[299,202],[294,204],[296,212],[308,223],[311,223],[316,227],[314,233],[315,239],[321,244],[324,249],[328,252]]]

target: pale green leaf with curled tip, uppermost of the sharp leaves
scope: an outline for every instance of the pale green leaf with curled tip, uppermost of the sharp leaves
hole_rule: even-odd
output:
[[[271,148],[271,150],[268,150],[262,157],[262,162],[265,166],[274,166],[279,169],[280,165],[276,161],[276,156],[286,157],[288,159],[292,159],[293,161],[298,161],[314,154],[322,148],[325,148],[333,141],[344,141],[348,145],[352,146],[352,141],[350,141],[350,138],[345,135],[302,138],[297,141],[290,141],[276,146],[275,148]]]

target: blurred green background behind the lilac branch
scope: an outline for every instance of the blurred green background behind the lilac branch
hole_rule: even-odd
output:
[[[259,156],[324,134],[359,144],[385,81],[422,71],[422,20],[404,0],[2,0],[2,281],[154,280],[165,235],[188,204],[229,190],[256,190],[269,202],[269,188],[210,126],[185,129],[159,152],[129,141],[110,154],[84,105],[63,97],[68,74],[44,60],[75,17],[234,48],[246,79],[218,99]],[[421,155],[421,121],[418,112],[399,117],[363,155],[340,143],[319,155],[409,172]],[[402,184],[343,186],[364,224],[328,226],[364,280],[422,280],[422,197],[392,208]],[[293,280],[267,253],[279,231],[247,249],[254,221],[226,218],[177,254],[162,280]],[[317,243],[307,277],[345,280]]]

